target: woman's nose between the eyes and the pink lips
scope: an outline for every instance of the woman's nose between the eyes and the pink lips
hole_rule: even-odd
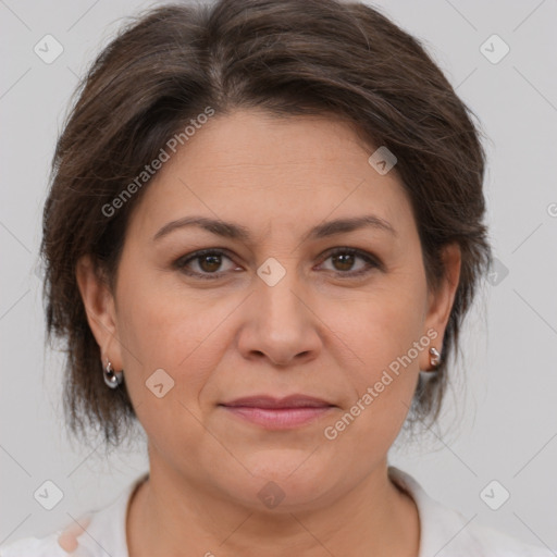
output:
[[[317,357],[322,345],[321,322],[295,271],[286,272],[273,286],[260,280],[246,304],[238,337],[244,358],[286,367]]]

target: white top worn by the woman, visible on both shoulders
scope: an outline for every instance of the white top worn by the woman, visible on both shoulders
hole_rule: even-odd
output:
[[[554,557],[555,553],[522,542],[478,522],[430,497],[408,473],[389,466],[388,474],[416,502],[420,517],[417,557]],[[44,537],[25,537],[0,547],[0,557],[129,557],[126,543],[127,507],[134,490],[148,476],[132,482],[110,505],[86,515],[75,553],[59,545],[62,530]],[[82,519],[78,520],[83,523]]]

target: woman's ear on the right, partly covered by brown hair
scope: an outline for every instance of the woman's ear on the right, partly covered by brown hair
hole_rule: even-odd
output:
[[[440,352],[443,346],[443,338],[447,327],[450,310],[455,301],[455,295],[460,280],[461,252],[458,244],[449,244],[443,248],[442,260],[444,263],[444,275],[436,288],[433,286],[428,295],[428,309],[425,318],[424,335],[432,338],[431,346]],[[430,335],[426,334],[430,331]],[[433,336],[433,331],[437,335]],[[423,361],[420,361],[420,369],[430,370],[429,350],[422,352]],[[441,354],[443,360],[444,355]]]

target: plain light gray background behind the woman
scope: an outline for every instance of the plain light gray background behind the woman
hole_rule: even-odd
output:
[[[77,76],[123,17],[151,5],[156,2],[0,0],[0,544],[47,533],[106,505],[148,467],[140,434],[136,449],[109,459],[100,442],[82,447],[66,438],[62,360],[44,348],[36,263],[49,162]],[[469,318],[465,362],[454,370],[438,428],[413,442],[398,440],[391,461],[467,519],[555,550],[557,2],[374,5],[424,42],[483,124],[488,224],[504,265]],[[47,34],[64,49],[51,64],[34,52]],[[510,48],[498,63],[481,51],[493,34]],[[492,58],[503,52],[493,40],[486,48]],[[47,480],[63,492],[50,511],[34,498]],[[480,496],[492,480],[510,493],[498,510]],[[497,487],[492,500],[499,496]]]

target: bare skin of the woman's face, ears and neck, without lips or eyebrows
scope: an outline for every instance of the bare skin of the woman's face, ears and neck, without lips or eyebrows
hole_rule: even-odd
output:
[[[379,174],[368,163],[373,150],[333,117],[215,115],[134,209],[114,292],[88,258],[79,262],[89,324],[102,356],[125,370],[149,441],[150,475],[127,516],[131,557],[418,554],[417,507],[389,480],[387,451],[419,371],[431,369],[428,349],[337,438],[323,434],[428,330],[438,334],[430,346],[441,348],[460,272],[458,247],[448,246],[446,278],[428,287],[396,166]],[[370,213],[396,234],[366,227],[302,240],[323,221]],[[152,239],[186,215],[242,224],[251,240],[199,227]],[[383,267],[331,257],[343,247]],[[220,265],[173,264],[203,248],[226,250]],[[257,274],[270,257],[286,272],[274,286]],[[161,368],[174,387],[158,398],[145,383]],[[310,424],[270,431],[218,406],[263,393],[304,393],[336,407]],[[258,497],[269,481],[285,494],[272,509]]]

